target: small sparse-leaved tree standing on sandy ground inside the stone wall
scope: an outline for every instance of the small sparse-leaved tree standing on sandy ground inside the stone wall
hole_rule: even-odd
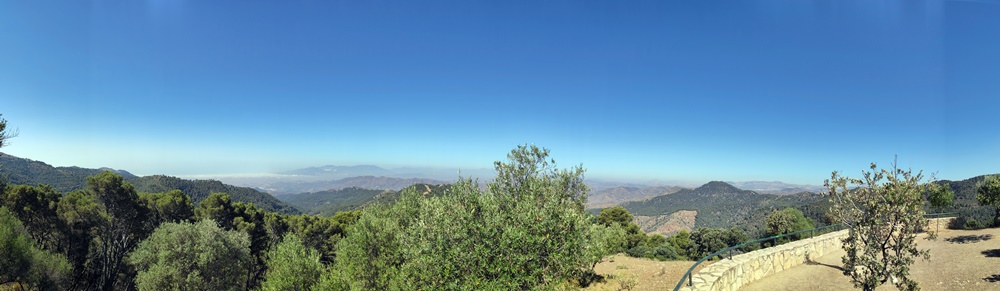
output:
[[[830,212],[848,227],[843,239],[844,275],[855,287],[875,290],[891,280],[901,290],[919,289],[910,278],[910,265],[917,256],[930,257],[916,245],[916,234],[926,221],[922,178],[919,172],[879,170],[872,163],[861,179],[835,171],[826,181],[833,204]]]

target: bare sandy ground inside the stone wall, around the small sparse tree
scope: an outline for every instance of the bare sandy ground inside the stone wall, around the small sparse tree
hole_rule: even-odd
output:
[[[937,240],[917,236],[917,248],[930,249],[931,259],[918,258],[910,269],[923,290],[1000,290],[1000,229],[945,230]],[[741,290],[850,290],[840,250],[751,283]],[[896,290],[886,283],[877,290]]]

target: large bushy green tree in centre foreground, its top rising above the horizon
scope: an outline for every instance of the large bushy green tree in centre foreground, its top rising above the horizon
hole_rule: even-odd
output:
[[[483,191],[404,191],[366,208],[337,244],[338,276],[357,289],[535,289],[579,278],[609,241],[584,210],[583,169],[519,146]]]

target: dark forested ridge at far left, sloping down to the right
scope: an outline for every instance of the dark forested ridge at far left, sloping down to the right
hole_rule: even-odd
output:
[[[44,162],[7,154],[0,156],[0,175],[5,177],[9,184],[48,184],[62,193],[87,189],[87,177],[105,170],[122,175],[125,181],[135,186],[138,192],[165,192],[178,189],[184,191],[195,203],[205,199],[213,192],[225,192],[233,201],[253,203],[264,210],[288,214],[299,213],[294,207],[267,193],[252,188],[227,185],[215,180],[187,180],[163,175],[139,177],[124,170],[53,167]]]

